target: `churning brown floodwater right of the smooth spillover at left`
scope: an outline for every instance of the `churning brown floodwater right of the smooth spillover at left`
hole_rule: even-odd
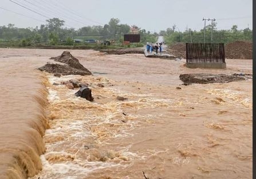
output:
[[[39,63],[61,52],[24,53]],[[227,59],[227,69],[205,70],[141,54],[70,52],[94,76],[43,75],[50,84],[89,83],[95,100],[75,97],[78,88],[47,87],[50,128],[34,178],[252,177],[252,80],[190,86],[179,80],[195,72],[252,74],[252,60]]]

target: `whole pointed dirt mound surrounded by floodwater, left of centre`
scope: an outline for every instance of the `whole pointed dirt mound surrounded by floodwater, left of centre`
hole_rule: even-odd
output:
[[[65,64],[46,63],[44,66],[38,68],[38,70],[47,71],[52,74],[58,73],[61,75],[92,75],[92,72],[82,66],[82,64],[79,63],[79,60],[74,58],[68,51],[64,51],[60,56],[52,57],[50,59]]]

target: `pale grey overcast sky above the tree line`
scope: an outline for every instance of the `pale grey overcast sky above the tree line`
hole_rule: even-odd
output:
[[[253,0],[1,0],[0,3],[0,26],[13,23],[15,27],[40,27],[46,19],[54,17],[75,29],[104,25],[111,18],[152,32],[173,25],[180,31],[186,27],[200,30],[203,18],[215,18],[218,30],[233,25],[252,29]],[[206,25],[209,23],[206,21]]]

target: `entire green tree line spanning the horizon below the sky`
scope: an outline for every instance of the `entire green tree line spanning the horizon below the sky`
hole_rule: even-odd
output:
[[[0,43],[13,42],[13,46],[32,46],[36,44],[50,45],[74,45],[74,39],[96,39],[96,40],[123,40],[123,34],[128,34],[130,26],[121,24],[118,18],[111,18],[104,26],[86,26],[80,29],[64,27],[65,21],[58,18],[47,19],[40,27],[18,28],[14,24],[0,26]],[[175,42],[204,42],[204,29],[193,31],[187,29],[184,32],[176,30],[176,26],[162,30],[159,34],[151,33],[140,27],[133,26],[139,30],[141,43],[156,42],[157,35],[163,35],[167,44]],[[253,31],[249,28],[238,30],[233,25],[230,30],[217,30],[216,22],[206,26],[206,43],[229,43],[235,40],[253,40]],[[212,36],[212,41],[211,41]]]

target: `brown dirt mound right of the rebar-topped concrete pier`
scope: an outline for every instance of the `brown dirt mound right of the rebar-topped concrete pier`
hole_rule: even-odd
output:
[[[226,44],[225,57],[230,59],[253,59],[253,43],[235,41]]]

